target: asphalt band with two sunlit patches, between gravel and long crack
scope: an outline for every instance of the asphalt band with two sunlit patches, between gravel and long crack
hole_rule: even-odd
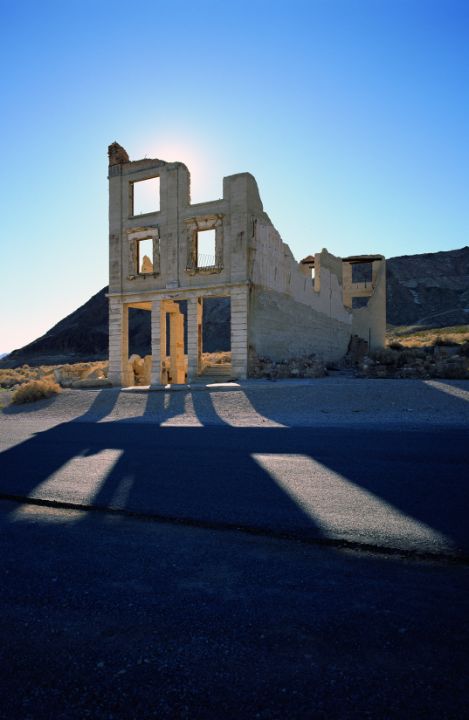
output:
[[[0,453],[0,496],[407,552],[468,553],[454,428],[67,422]]]

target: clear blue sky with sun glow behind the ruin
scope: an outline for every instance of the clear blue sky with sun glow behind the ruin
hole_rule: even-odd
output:
[[[467,0],[0,0],[0,352],[107,284],[107,146],[249,171],[295,257],[469,244]]]

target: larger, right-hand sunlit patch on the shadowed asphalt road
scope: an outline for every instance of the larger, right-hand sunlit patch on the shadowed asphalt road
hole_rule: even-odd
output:
[[[325,537],[356,540],[362,535],[367,542],[379,538],[381,545],[383,536],[384,544],[390,545],[405,537],[407,546],[421,547],[436,539],[449,547],[453,545],[445,535],[308,455],[254,453],[252,458],[309,515]]]

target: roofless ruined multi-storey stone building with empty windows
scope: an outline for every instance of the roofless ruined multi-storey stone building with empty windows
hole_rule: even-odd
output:
[[[384,258],[341,259],[322,250],[298,263],[264,212],[249,173],[224,178],[221,199],[191,204],[183,163],[131,162],[113,143],[109,256],[109,377],[115,385],[134,382],[129,308],[151,313],[145,373],[152,385],[202,375],[203,304],[217,296],[230,303],[232,377],[253,374],[259,358],[340,360],[353,334],[372,348],[384,342]]]

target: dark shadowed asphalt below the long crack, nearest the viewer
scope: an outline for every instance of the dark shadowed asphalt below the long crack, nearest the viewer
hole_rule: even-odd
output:
[[[2,718],[461,718],[468,568],[1,503]]]

